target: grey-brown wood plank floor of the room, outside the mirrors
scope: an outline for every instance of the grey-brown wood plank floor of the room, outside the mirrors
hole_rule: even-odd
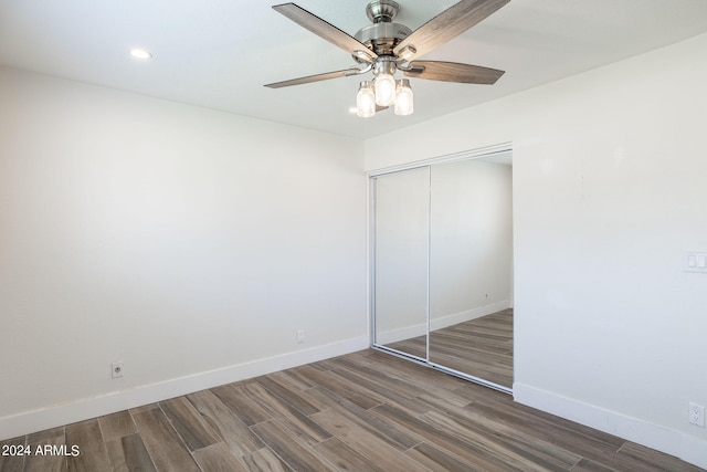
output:
[[[0,445],[0,471],[700,471],[363,350],[54,428]]]

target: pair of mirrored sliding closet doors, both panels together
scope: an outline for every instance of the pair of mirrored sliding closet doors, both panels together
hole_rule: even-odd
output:
[[[373,346],[510,392],[510,151],[371,176]]]

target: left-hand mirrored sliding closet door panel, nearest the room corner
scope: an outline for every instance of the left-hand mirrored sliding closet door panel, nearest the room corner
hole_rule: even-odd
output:
[[[372,179],[374,344],[428,358],[430,169]]]

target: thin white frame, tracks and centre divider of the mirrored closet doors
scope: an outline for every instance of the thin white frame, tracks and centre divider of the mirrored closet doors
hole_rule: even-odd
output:
[[[428,275],[426,275],[426,355],[425,358],[421,358],[419,356],[410,355],[408,353],[393,349],[386,345],[381,345],[376,343],[376,183],[374,180],[378,177],[382,177],[390,174],[420,169],[423,167],[430,167],[430,175],[432,174],[432,167],[435,164],[446,164],[453,162],[457,160],[467,160],[467,159],[479,159],[484,157],[490,157],[500,153],[513,151],[513,146],[510,143],[503,143],[496,146],[489,146],[478,149],[472,149],[467,151],[456,153],[452,155],[435,157],[431,159],[419,160],[415,162],[410,162],[405,165],[383,168],[379,170],[373,170],[367,172],[368,177],[368,186],[369,186],[369,202],[368,202],[368,227],[369,227],[369,258],[368,258],[368,275],[369,275],[369,336],[370,336],[370,346],[376,350],[380,350],[382,353],[387,353],[397,357],[401,357],[408,359],[410,361],[420,364],[422,366],[433,368],[435,370],[443,371],[449,375],[453,375],[455,377],[462,378],[464,380],[472,381],[474,384],[479,384],[488,388],[493,388],[494,390],[503,391],[504,394],[513,395],[513,389],[503,385],[495,384],[493,381],[483,379],[481,377],[472,376],[466,373],[462,373],[455,369],[451,369],[449,367],[442,366],[440,364],[435,364],[430,361],[430,258],[431,258],[431,220],[428,221],[429,231],[428,231]],[[432,211],[432,208],[429,207],[429,211]]]

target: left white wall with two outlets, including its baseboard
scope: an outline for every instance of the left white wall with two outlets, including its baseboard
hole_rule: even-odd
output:
[[[368,346],[362,154],[0,69],[0,439]]]

